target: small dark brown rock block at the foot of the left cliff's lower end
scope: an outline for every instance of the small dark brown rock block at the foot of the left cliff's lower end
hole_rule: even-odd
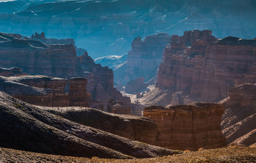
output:
[[[107,111],[114,114],[131,114],[131,106],[110,98],[107,103]]]

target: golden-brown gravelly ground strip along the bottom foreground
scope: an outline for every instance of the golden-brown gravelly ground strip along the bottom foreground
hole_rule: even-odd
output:
[[[76,158],[0,148],[0,162],[256,162],[256,148],[227,147],[202,149],[197,152],[185,152],[184,154],[161,158],[130,160],[98,159],[97,157],[92,159]]]

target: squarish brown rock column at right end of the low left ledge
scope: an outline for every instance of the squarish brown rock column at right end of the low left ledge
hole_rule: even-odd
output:
[[[70,106],[89,107],[88,95],[86,91],[86,78],[71,78],[70,90],[68,96],[70,97]]]

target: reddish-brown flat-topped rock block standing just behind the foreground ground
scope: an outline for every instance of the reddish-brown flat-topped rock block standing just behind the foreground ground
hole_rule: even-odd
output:
[[[143,116],[157,123],[157,146],[196,151],[227,146],[221,133],[223,113],[222,104],[191,103],[170,108],[148,106]]]

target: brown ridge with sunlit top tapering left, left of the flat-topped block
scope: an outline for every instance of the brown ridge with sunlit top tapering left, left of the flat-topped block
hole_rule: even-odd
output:
[[[108,133],[126,137],[130,140],[149,143],[151,145],[155,145],[157,140],[157,124],[148,118],[116,115],[92,108],[81,107],[41,107],[41,109],[62,116],[73,122],[107,131]]]

